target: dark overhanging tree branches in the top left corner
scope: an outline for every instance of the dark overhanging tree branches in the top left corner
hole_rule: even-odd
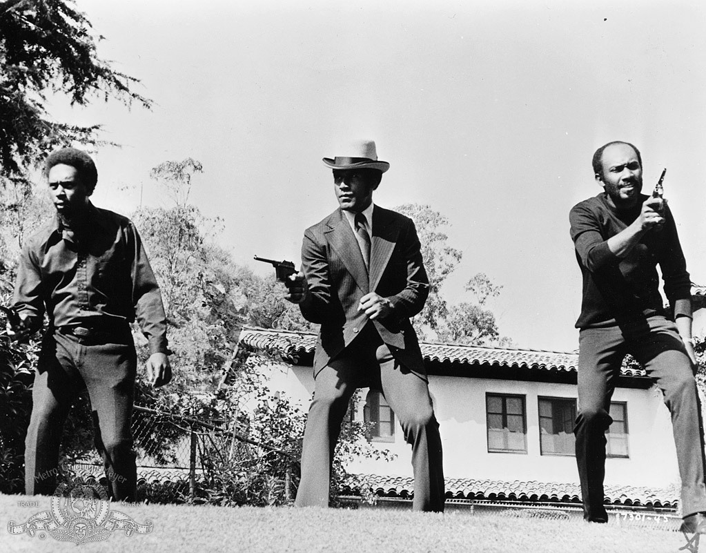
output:
[[[28,193],[28,168],[59,145],[97,143],[100,125],[54,121],[47,95],[71,105],[116,97],[150,107],[134,92],[138,81],[100,59],[91,24],[71,0],[0,2],[0,177]]]

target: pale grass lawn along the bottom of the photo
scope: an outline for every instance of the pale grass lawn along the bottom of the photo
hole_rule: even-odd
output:
[[[38,501],[39,506],[20,506]],[[0,496],[0,549],[4,552],[571,552],[678,553],[680,532],[592,525],[577,519],[517,518],[501,514],[443,515],[383,509],[229,509],[213,506],[112,504],[111,509],[154,530],[81,544],[51,535],[10,535],[8,522],[25,523],[51,509],[49,497]],[[704,547],[706,552],[706,545]]]

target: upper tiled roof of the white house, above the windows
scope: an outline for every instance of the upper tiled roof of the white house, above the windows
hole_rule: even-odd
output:
[[[244,326],[240,343],[260,350],[281,352],[295,364],[302,357],[313,355],[316,334],[290,331],[273,331]],[[487,365],[490,367],[516,367],[538,371],[575,372],[578,354],[542,350],[516,350],[503,347],[421,343],[421,353],[426,362]],[[645,376],[642,369],[621,369],[623,376]]]

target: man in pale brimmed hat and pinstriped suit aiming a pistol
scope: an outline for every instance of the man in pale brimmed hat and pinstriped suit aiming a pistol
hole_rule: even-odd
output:
[[[339,208],[304,232],[301,272],[287,295],[321,324],[297,506],[328,506],[341,422],[356,388],[371,386],[383,392],[412,445],[414,510],[443,511],[441,437],[409,322],[429,295],[419,238],[412,220],[373,204],[390,168],[375,143],[359,141],[345,154],[323,158]]]

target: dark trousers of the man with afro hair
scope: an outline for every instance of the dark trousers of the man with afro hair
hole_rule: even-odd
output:
[[[137,356],[129,328],[110,341],[116,343],[96,344],[59,331],[44,338],[25,440],[28,495],[54,493],[64,422],[78,393],[87,388],[95,446],[104,461],[112,498],[136,499],[130,423]]]

